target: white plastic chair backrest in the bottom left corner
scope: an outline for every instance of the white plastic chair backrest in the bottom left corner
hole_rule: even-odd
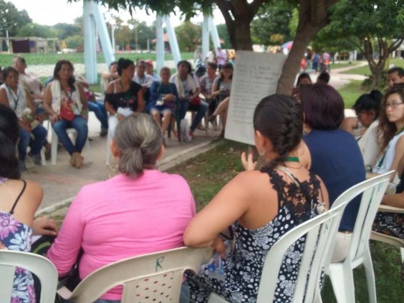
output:
[[[35,274],[41,282],[41,302],[54,302],[58,272],[48,259],[31,252],[0,250],[0,302],[10,302],[16,267]],[[38,298],[36,298],[39,301]]]

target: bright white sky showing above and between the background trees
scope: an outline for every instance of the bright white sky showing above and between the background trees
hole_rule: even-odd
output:
[[[11,0],[11,3],[19,10],[26,10],[29,17],[34,23],[41,25],[55,25],[57,23],[73,23],[73,20],[83,14],[83,1],[68,3],[67,0]],[[102,7],[102,12],[106,13],[108,20],[110,14],[108,9]],[[118,15],[122,20],[126,21],[131,18],[128,12],[119,12],[111,10],[111,13]],[[148,16],[145,11],[136,10],[133,14],[135,19],[145,21],[147,25],[155,20],[155,14]],[[192,22],[202,22],[203,17],[191,19]],[[216,24],[225,23],[219,10],[214,12],[214,20]],[[171,15],[171,25],[176,27],[181,24],[179,14]]]

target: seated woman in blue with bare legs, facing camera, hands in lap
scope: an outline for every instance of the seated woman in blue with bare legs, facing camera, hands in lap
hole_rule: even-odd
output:
[[[164,135],[170,125],[171,117],[174,115],[175,103],[178,102],[177,87],[174,83],[170,83],[170,76],[170,69],[163,67],[160,71],[161,81],[151,83],[149,88],[150,99],[147,109],[161,127],[164,144]],[[161,104],[157,105],[157,102]],[[163,115],[164,118],[163,124],[161,122],[161,115]]]

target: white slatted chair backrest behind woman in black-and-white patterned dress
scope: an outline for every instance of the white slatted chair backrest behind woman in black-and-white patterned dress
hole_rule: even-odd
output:
[[[335,234],[345,205],[340,205],[313,219],[289,230],[275,242],[265,259],[257,303],[272,302],[277,286],[277,280],[282,260],[287,249],[300,237],[306,235],[305,248],[301,258],[293,294],[295,302],[321,302],[320,277],[324,266],[331,258]],[[307,278],[309,280],[307,281]],[[307,283],[306,283],[307,282]]]

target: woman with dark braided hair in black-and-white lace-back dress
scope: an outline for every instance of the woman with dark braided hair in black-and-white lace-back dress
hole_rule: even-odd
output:
[[[290,96],[271,95],[256,107],[254,139],[267,163],[261,170],[254,170],[252,156],[246,160],[243,154],[243,165],[248,171],[226,184],[187,226],[185,245],[211,246],[226,258],[223,281],[209,277],[207,265],[197,276],[187,275],[191,300],[207,302],[210,292],[215,291],[231,302],[255,302],[271,246],[288,230],[315,217],[319,200],[328,207],[323,182],[298,162],[302,128],[301,105]],[[296,187],[291,176],[301,188]],[[229,226],[236,243],[233,251],[225,256],[219,234]],[[289,302],[285,288],[293,287],[297,278],[301,243],[299,240],[291,247],[296,262],[285,261],[282,266],[279,275],[285,280],[277,283],[274,301]]]

